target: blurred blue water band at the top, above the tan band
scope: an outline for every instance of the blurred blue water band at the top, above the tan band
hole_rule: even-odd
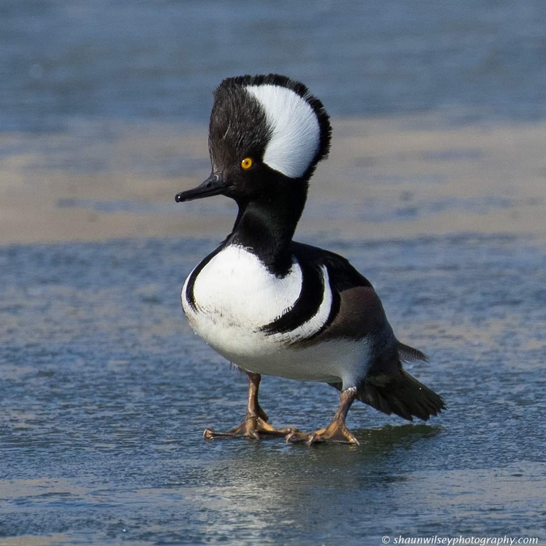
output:
[[[546,114],[546,3],[3,0],[0,130],[206,121],[225,76],[281,72],[335,116]]]

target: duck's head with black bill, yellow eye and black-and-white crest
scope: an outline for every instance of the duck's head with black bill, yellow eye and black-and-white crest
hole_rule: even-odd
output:
[[[226,195],[245,203],[294,185],[306,192],[330,135],[321,101],[300,82],[278,74],[225,79],[210,116],[211,174],[175,200]]]

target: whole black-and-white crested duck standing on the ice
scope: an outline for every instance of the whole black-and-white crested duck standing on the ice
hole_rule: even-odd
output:
[[[370,282],[348,260],[292,240],[308,181],[330,147],[320,100],[277,74],[225,79],[210,117],[212,173],[177,203],[225,195],[239,212],[232,232],[189,274],[189,324],[248,376],[246,419],[205,438],[286,436],[358,444],[345,418],[354,400],[427,420],[440,396],[402,369],[425,355],[400,343]],[[261,375],[329,383],[341,391],[332,422],[312,434],[276,429],[258,404]]]

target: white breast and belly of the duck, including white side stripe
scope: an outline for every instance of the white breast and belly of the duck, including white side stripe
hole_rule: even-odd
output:
[[[323,327],[332,302],[328,272],[322,269],[323,298],[317,312],[292,331],[265,334],[261,327],[288,311],[301,291],[302,272],[277,278],[251,252],[230,245],[199,272],[193,285],[195,309],[182,289],[182,306],[192,328],[219,354],[244,370],[310,381],[356,381],[368,348],[349,340],[298,348],[292,343]],[[188,279],[190,276],[188,276]]]

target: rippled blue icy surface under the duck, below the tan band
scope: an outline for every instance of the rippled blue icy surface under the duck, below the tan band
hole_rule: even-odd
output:
[[[181,315],[182,272],[211,241],[0,250],[0,537],[543,538],[544,248],[513,236],[320,242],[366,271],[398,335],[429,353],[406,369],[445,397],[440,417],[408,424],[355,405],[354,448],[206,442],[206,426],[242,418],[246,387]],[[338,398],[275,377],[260,395],[272,422],[300,430],[328,423]]]

